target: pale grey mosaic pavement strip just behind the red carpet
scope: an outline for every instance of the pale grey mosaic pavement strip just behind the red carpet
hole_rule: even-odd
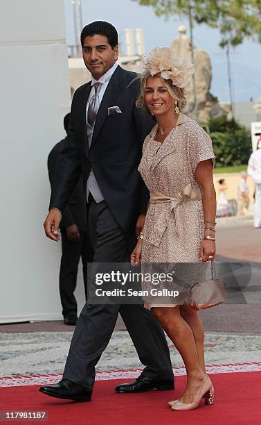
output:
[[[71,332],[2,334],[1,376],[62,373],[71,336]],[[168,343],[172,365],[182,366],[179,353]],[[208,365],[260,361],[261,335],[207,333],[205,343]],[[128,333],[115,331],[97,369],[142,367]]]

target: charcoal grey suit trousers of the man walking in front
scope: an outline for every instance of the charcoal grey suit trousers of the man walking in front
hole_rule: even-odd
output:
[[[93,263],[123,263],[135,246],[135,235],[126,235],[102,201],[89,197],[88,256]],[[173,381],[168,344],[159,322],[142,305],[96,305],[86,303],[78,319],[64,369],[69,379],[90,390],[95,366],[107,347],[120,313],[145,365],[142,375]]]

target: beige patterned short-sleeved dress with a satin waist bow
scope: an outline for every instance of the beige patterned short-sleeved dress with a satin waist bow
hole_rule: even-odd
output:
[[[199,244],[204,234],[202,201],[186,199],[181,194],[188,187],[199,191],[195,169],[200,161],[212,158],[214,162],[212,142],[197,122],[182,113],[163,144],[154,140],[156,128],[145,138],[138,170],[151,194],[159,192],[170,201],[150,203],[142,264],[199,263]],[[143,283],[143,290],[152,286],[150,282]],[[159,299],[144,298],[147,306],[159,305]]]

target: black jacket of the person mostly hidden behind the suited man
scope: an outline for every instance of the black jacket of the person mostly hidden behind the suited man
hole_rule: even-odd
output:
[[[59,156],[62,150],[64,149],[65,144],[66,138],[55,144],[55,147],[53,147],[53,149],[48,155],[48,174],[52,190],[53,183],[55,181],[55,172],[57,169]],[[73,195],[69,201],[69,204],[64,210],[64,213],[62,215],[62,222],[60,223],[60,228],[71,226],[71,224],[77,224],[79,231],[87,231],[86,197],[84,195],[82,177],[78,181]]]

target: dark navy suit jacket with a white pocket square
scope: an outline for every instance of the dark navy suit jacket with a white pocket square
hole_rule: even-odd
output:
[[[85,183],[93,169],[105,201],[124,231],[134,228],[138,214],[145,212],[149,194],[137,167],[143,141],[154,121],[136,108],[140,81],[135,78],[134,72],[116,68],[100,103],[90,149],[86,107],[91,82],[75,91],[68,140],[60,154],[50,208],[64,210],[80,173]],[[118,106],[122,113],[108,115],[111,106]]]

